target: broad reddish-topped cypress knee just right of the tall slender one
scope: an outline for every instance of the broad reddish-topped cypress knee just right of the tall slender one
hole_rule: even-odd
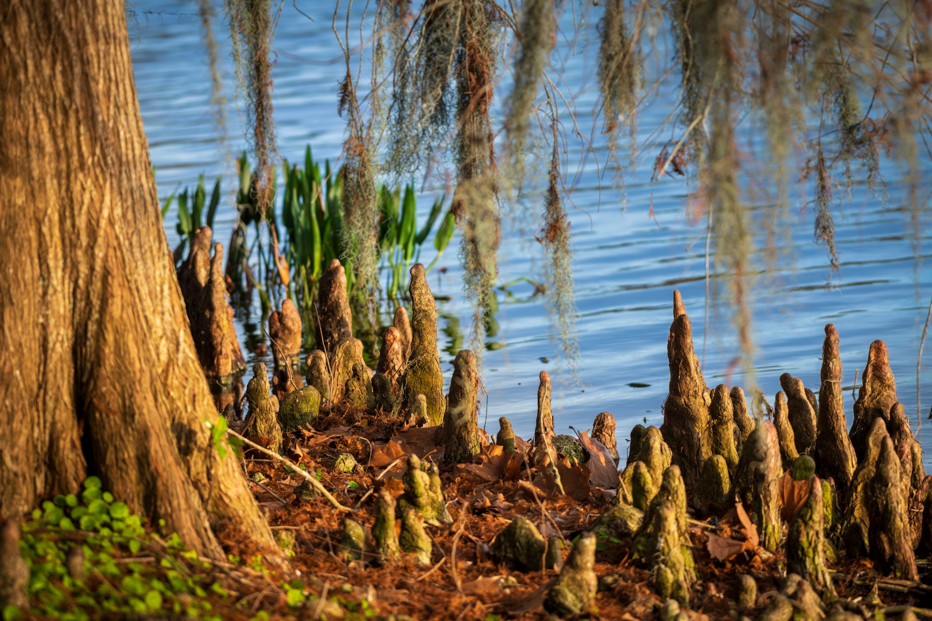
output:
[[[855,401],[855,419],[851,424],[851,443],[860,460],[867,451],[865,439],[878,416],[888,419],[897,402],[897,383],[890,370],[890,360],[883,341],[874,341],[868,350],[868,362],[861,375],[861,387]]]

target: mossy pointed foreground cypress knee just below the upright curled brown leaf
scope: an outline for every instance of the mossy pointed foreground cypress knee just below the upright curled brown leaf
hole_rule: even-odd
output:
[[[787,571],[799,574],[818,590],[834,593],[826,564],[825,505],[822,481],[811,480],[809,497],[796,511],[787,536]]]

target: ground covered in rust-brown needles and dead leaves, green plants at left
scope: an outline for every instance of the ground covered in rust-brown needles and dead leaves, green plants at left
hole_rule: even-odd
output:
[[[404,492],[407,453],[443,463],[444,448],[435,440],[436,427],[402,429],[397,423],[377,420],[371,413],[343,412],[323,416],[319,422],[326,428],[286,437],[282,453],[322,483],[336,501],[352,509],[351,514],[322,494],[306,493],[307,485],[301,486],[304,478],[281,461],[255,450],[247,450],[242,461],[255,497],[267,510],[269,524],[286,551],[287,565],[268,560],[277,551],[243,547],[235,536],[222,542],[229,553],[228,563],[198,559],[185,552],[179,542],[162,540],[148,527],[147,534],[142,530],[129,533],[117,546],[103,542],[102,549],[93,523],[81,522],[71,533],[48,528],[49,514],[56,523],[61,519],[56,506],[71,507],[73,513],[75,504],[94,510],[93,497],[100,494],[85,495],[83,503],[62,497],[46,504],[44,516],[37,511],[34,521],[24,525],[23,541],[32,555],[27,558],[32,565],[50,562],[67,568],[74,552],[69,546],[80,542],[83,558],[90,561],[86,566],[92,567],[83,576],[88,587],[75,587],[64,569],[49,570],[45,583],[31,585],[34,614],[41,611],[37,618],[68,619],[143,619],[161,614],[172,614],[176,619],[257,620],[557,618],[542,605],[557,572],[526,573],[496,565],[489,560],[489,545],[512,520],[523,517],[533,522],[544,538],[560,537],[565,542],[565,557],[574,539],[611,508],[613,490],[596,487],[585,476],[574,480],[573,473],[564,471],[564,486],[570,495],[557,493],[540,477],[534,477],[520,456],[527,450],[525,442],[517,440],[516,459],[502,456],[501,447],[489,445],[473,464],[441,468],[452,523],[427,527],[432,539],[430,563],[419,564],[404,553],[397,559],[384,559],[369,551],[362,559],[353,560],[341,543],[345,518],[362,524],[371,537],[377,494],[385,490],[397,497]],[[335,463],[346,454],[356,465],[350,463],[343,466],[347,471],[342,471]],[[584,466],[575,467],[583,475],[588,473]],[[104,494],[104,500],[111,503],[113,498],[108,496]],[[113,509],[111,513],[114,520],[122,518]],[[739,520],[729,521],[727,515],[721,520],[690,520],[690,525],[698,581],[685,618],[761,616],[781,587],[781,576],[786,574],[784,559],[757,547],[756,536],[747,536]],[[133,539],[141,543],[131,545]],[[58,547],[47,549],[43,540],[54,541]],[[374,549],[371,539],[367,548]],[[664,611],[665,602],[651,587],[646,566],[631,559],[631,548],[630,537],[599,536],[596,599],[588,612],[569,618],[676,616],[670,614],[675,611]],[[712,552],[724,560],[713,557]],[[835,603],[834,610],[843,607],[860,614],[846,618],[896,618],[911,607],[920,616],[932,616],[932,610],[923,607],[932,604],[930,591],[922,585],[884,578],[871,569],[869,560],[841,561],[831,569],[836,572],[834,587],[843,604]],[[921,571],[927,569],[922,567]],[[738,574],[749,574],[757,583],[753,605],[744,608],[737,603]],[[112,601],[102,603],[102,594]],[[96,604],[92,602],[95,599]],[[134,612],[127,614],[128,608]],[[830,614],[832,609],[829,604],[824,610]],[[4,617],[22,615],[7,610]]]

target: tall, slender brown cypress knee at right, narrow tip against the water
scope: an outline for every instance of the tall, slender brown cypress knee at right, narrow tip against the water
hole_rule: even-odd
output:
[[[823,477],[831,477],[844,495],[857,468],[855,447],[848,438],[844,418],[842,358],[839,355],[838,331],[826,324],[822,344],[821,385],[818,390],[818,425],[816,425],[816,460]]]

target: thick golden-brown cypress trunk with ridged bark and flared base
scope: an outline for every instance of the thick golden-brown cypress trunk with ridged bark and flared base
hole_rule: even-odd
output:
[[[119,0],[0,9],[0,515],[89,474],[201,553],[274,539],[174,276]]]

